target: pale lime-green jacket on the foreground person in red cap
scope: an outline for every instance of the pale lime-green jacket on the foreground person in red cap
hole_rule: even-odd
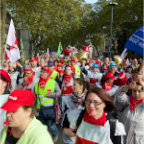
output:
[[[7,129],[4,128],[0,144],[5,144],[6,137]],[[16,144],[53,144],[53,141],[47,127],[34,117]]]

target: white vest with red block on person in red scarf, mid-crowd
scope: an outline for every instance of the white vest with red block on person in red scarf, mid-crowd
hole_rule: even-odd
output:
[[[70,83],[68,85],[65,85],[64,79],[62,83],[62,96],[68,96],[72,93],[72,86],[73,86],[74,80],[71,79]]]

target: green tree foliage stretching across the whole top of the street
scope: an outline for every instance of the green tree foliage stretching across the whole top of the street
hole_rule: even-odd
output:
[[[113,33],[119,41],[119,51],[127,39],[143,24],[142,0],[115,0]],[[91,5],[84,0],[7,0],[17,27],[30,30],[30,43],[38,49],[57,51],[57,45],[81,48],[90,39],[96,48],[103,43],[103,35],[110,36],[111,7],[107,0]],[[105,27],[105,29],[103,28]],[[85,42],[85,45],[87,43]]]

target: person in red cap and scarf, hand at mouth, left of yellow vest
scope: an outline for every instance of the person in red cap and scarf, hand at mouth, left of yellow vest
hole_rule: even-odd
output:
[[[27,89],[34,93],[35,84],[39,81],[34,75],[32,68],[27,67],[24,71],[24,78],[19,80],[18,88]]]

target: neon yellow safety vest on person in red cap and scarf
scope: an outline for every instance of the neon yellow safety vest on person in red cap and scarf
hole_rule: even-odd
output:
[[[38,87],[38,83],[35,85],[35,93],[38,95],[37,97],[37,105],[36,108],[40,109],[40,106],[54,106],[54,98],[48,98],[45,95],[47,94],[47,91],[51,91],[51,93],[55,90],[55,81],[52,79],[49,79],[44,87],[44,90]]]

